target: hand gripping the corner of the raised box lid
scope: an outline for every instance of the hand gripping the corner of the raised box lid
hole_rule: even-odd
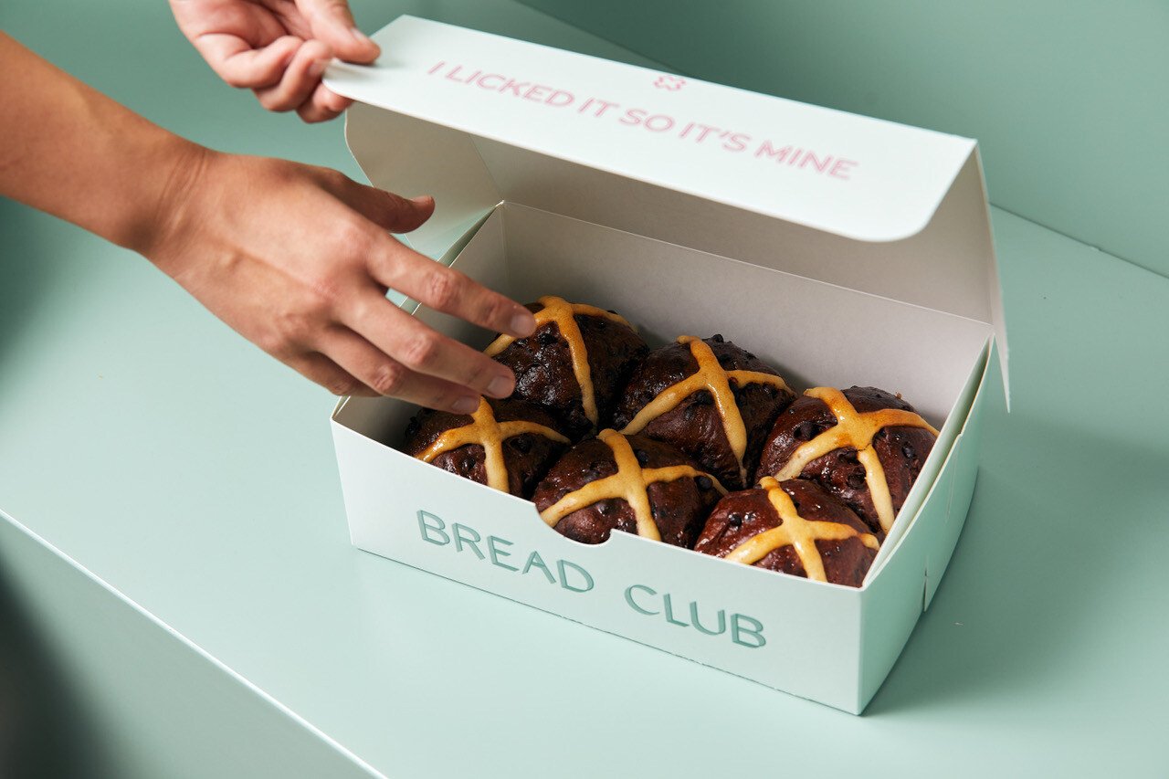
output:
[[[171,0],[171,11],[223,81],[305,122],[332,119],[352,102],[320,82],[332,57],[368,63],[381,53],[345,0]]]

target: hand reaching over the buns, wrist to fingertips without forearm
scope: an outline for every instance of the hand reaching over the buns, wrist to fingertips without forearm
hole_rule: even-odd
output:
[[[143,254],[265,352],[338,395],[394,395],[471,413],[514,375],[388,299],[525,337],[518,303],[389,235],[422,225],[430,198],[407,200],[337,171],[194,147],[164,198]]]

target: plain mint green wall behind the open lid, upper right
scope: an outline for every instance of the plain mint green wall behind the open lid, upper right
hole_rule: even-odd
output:
[[[977,138],[991,201],[1169,275],[1162,0],[523,0],[679,73]]]

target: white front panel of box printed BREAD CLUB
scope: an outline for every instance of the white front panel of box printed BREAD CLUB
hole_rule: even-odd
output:
[[[360,549],[855,711],[859,592],[625,533],[577,544],[526,501],[344,426],[334,435]]]

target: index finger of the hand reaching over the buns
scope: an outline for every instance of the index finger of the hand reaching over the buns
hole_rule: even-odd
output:
[[[369,257],[374,281],[423,305],[516,338],[535,331],[535,317],[516,301],[470,276],[382,236]]]

